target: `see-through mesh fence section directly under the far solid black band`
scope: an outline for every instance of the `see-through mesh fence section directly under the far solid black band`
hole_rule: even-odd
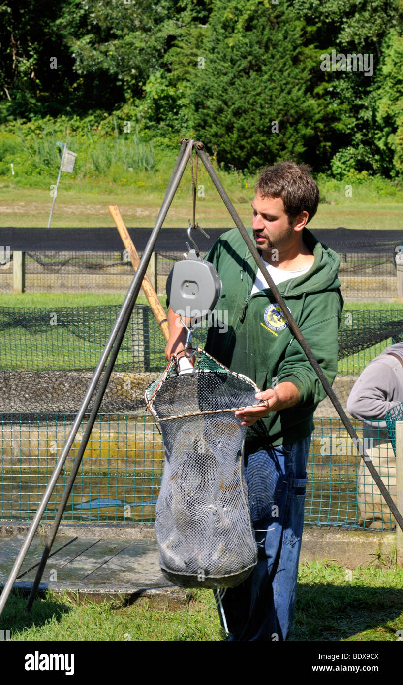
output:
[[[125,251],[14,251],[9,258],[0,269],[0,292],[125,293],[133,279]],[[157,292],[165,292],[168,274],[182,258],[183,251],[155,253],[148,275]],[[341,253],[339,279],[345,298],[393,299],[398,296],[395,252]]]

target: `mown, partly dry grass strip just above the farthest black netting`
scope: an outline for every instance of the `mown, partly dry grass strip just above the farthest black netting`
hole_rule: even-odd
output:
[[[205,228],[231,228],[233,221],[224,203],[218,196],[211,182],[205,180],[205,197],[198,198],[196,203],[196,219]],[[52,181],[54,183],[55,180]],[[225,181],[224,181],[225,185]],[[108,205],[116,203],[129,227],[152,227],[157,218],[165,188],[150,188],[138,190],[122,188],[118,184],[95,184],[94,187],[83,186],[78,182],[64,181],[57,193],[55,210],[53,212],[52,227],[114,227],[114,221],[109,214]],[[0,187],[0,210],[2,226],[31,226],[45,227],[51,210],[51,197],[44,179],[43,188],[16,188],[13,186]],[[250,202],[254,197],[253,188],[240,190],[226,186],[235,209],[246,226],[252,225],[252,210]],[[326,198],[328,193],[326,192]],[[391,201],[387,198],[361,196],[344,196],[344,184],[336,184],[332,190],[331,199],[321,202],[317,214],[313,217],[309,227],[315,228],[346,228],[358,229],[402,229],[403,203]],[[166,217],[166,227],[187,227],[187,220],[192,216],[192,198],[190,195],[190,179],[182,180],[178,194],[174,197],[172,206]]]

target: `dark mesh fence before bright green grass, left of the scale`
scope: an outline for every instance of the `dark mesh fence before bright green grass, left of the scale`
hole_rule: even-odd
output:
[[[0,369],[92,370],[120,306],[0,308]],[[135,305],[115,371],[164,368],[164,336],[151,308]]]

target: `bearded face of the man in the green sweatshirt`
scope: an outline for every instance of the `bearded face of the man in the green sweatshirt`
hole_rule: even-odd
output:
[[[298,236],[294,228],[289,225],[281,197],[263,198],[257,193],[252,202],[252,209],[253,237],[258,249],[263,253],[270,253],[272,249],[277,249],[279,253],[285,253],[294,247]],[[270,258],[266,259],[266,261],[269,260]]]

